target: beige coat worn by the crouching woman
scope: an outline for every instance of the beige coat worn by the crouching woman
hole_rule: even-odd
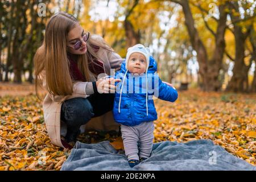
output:
[[[97,55],[102,61],[104,61],[105,73],[110,75],[110,68],[119,70],[124,59],[122,59],[117,53],[107,51],[106,49],[100,48]],[[43,86],[46,88],[46,73],[42,71],[41,75],[43,79]],[[53,96],[47,93],[43,101],[43,114],[44,122],[46,123],[46,129],[51,139],[51,142],[57,146],[63,147],[61,143],[60,135],[65,133],[67,130],[64,122],[60,120],[61,104],[65,100],[71,98],[82,97],[86,98],[89,95],[85,93],[85,86],[87,82],[76,82],[73,85],[73,94],[70,96]],[[118,131],[119,124],[113,119],[112,111],[101,115],[100,117],[92,118],[85,125],[85,130],[95,129],[98,131]]]

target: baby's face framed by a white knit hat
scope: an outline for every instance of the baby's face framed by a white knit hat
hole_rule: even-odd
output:
[[[141,75],[142,73],[146,72],[146,66],[146,57],[143,54],[138,52],[131,54],[127,65],[130,73]]]

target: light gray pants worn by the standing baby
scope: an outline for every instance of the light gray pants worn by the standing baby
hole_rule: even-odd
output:
[[[121,125],[123,146],[127,159],[149,158],[154,140],[154,121],[142,122],[137,126]],[[138,142],[140,151],[138,151]],[[139,152],[139,155],[138,155]]]

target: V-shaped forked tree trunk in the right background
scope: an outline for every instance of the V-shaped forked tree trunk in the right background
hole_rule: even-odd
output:
[[[221,88],[220,81],[218,81],[218,74],[222,67],[222,59],[225,50],[225,28],[226,28],[226,13],[224,11],[225,5],[220,5],[220,19],[218,20],[218,27],[215,36],[215,48],[212,59],[208,59],[206,48],[200,39],[199,33],[195,27],[191,9],[188,0],[172,1],[179,3],[183,7],[185,15],[185,25],[188,30],[189,38],[193,49],[197,53],[197,61],[199,62],[199,76],[202,81],[199,83],[201,89],[204,91],[218,91]]]

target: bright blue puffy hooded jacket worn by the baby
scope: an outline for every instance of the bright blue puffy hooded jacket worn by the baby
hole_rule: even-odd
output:
[[[152,56],[150,56],[147,77],[146,74],[143,74],[143,76],[129,75],[130,72],[126,70],[125,61],[123,61],[120,71],[115,73],[115,78],[122,80],[115,82],[117,90],[115,92],[113,115],[116,122],[126,126],[135,126],[145,121],[156,120],[158,116],[154,100],[152,100],[153,95],[161,100],[176,101],[177,90],[164,84],[158,74],[155,73],[156,70],[156,61]],[[126,72],[127,74],[125,74]],[[125,81],[123,82],[124,76]],[[131,84],[129,86],[129,83],[133,83],[133,86]]]

